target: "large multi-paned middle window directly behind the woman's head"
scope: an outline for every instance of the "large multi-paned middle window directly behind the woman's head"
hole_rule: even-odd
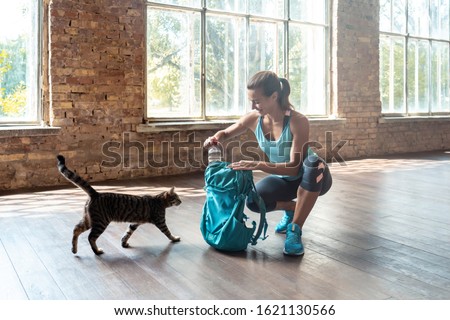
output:
[[[147,117],[214,119],[248,109],[260,70],[287,77],[291,102],[328,112],[327,0],[147,3]]]

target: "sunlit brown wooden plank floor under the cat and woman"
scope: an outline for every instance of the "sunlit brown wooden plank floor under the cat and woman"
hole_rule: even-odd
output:
[[[450,299],[450,152],[333,164],[334,185],[304,227],[305,255],[269,238],[224,254],[199,231],[203,177],[193,174],[96,185],[142,194],[175,185],[183,204],[167,212],[169,243],[142,226],[123,249],[125,224],[111,224],[95,256],[72,228],[85,194],[72,187],[0,196],[3,299]],[[257,173],[259,179],[263,175]]]

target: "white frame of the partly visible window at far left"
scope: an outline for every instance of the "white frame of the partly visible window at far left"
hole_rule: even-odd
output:
[[[42,126],[43,125],[43,106],[42,106],[42,59],[43,59],[43,17],[44,17],[44,1],[38,0],[36,3],[36,12],[33,16],[33,20],[35,20],[34,28],[33,28],[33,47],[35,49],[33,60],[36,61],[35,69],[32,71],[33,78],[30,79],[30,82],[33,82],[35,86],[32,89],[35,99],[31,99],[31,104],[35,104],[27,106],[28,108],[34,108],[35,118],[34,119],[24,119],[24,118],[16,118],[16,119],[6,119],[0,117],[0,127],[3,128],[14,128],[14,127],[23,127],[23,126]],[[28,65],[28,64],[27,64]],[[29,94],[30,95],[30,94]]]

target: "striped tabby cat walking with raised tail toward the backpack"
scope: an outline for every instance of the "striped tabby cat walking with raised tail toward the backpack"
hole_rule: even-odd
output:
[[[174,187],[170,191],[162,192],[156,196],[134,196],[119,193],[97,192],[78,174],[70,171],[65,164],[65,158],[57,156],[59,172],[70,182],[83,189],[89,195],[84,208],[84,215],[81,221],[75,225],[72,238],[72,252],[77,253],[78,236],[91,229],[88,240],[95,254],[103,253],[97,247],[98,237],[105,231],[110,222],[132,222],[124,236],[122,237],[122,247],[129,247],[128,239],[133,232],[144,223],[153,223],[172,242],[180,241],[180,237],[173,236],[166,225],[166,208],[178,206],[181,200],[174,192]]]

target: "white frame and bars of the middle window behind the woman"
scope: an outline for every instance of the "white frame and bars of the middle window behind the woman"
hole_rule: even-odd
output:
[[[218,10],[218,9],[210,9],[210,8],[206,8],[205,7],[205,0],[201,1],[202,6],[201,7],[186,7],[186,6],[182,6],[182,5],[171,5],[171,4],[166,4],[166,3],[159,3],[159,2],[154,2],[151,0],[145,0],[145,71],[144,71],[144,86],[145,86],[145,107],[144,107],[144,119],[146,121],[146,123],[171,123],[171,124],[177,124],[177,123],[189,123],[189,122],[197,122],[197,123],[208,123],[208,122],[214,122],[214,121],[231,121],[231,120],[235,120],[238,119],[239,117],[241,117],[243,114],[245,114],[246,112],[248,112],[249,110],[249,102],[247,101],[247,99],[244,100],[244,106],[243,106],[243,112],[242,114],[236,114],[236,115],[230,115],[230,116],[216,116],[216,115],[207,115],[206,114],[206,75],[207,75],[207,70],[206,70],[206,45],[205,45],[205,34],[206,34],[206,20],[207,20],[207,14],[211,14],[211,15],[221,15],[221,16],[226,16],[226,17],[243,17],[246,19],[246,25],[247,25],[247,29],[246,29],[246,33],[248,36],[248,33],[250,31],[250,23],[251,21],[258,21],[258,22],[270,22],[270,23],[281,23],[283,24],[283,29],[284,29],[284,33],[283,33],[283,41],[284,41],[284,53],[283,53],[283,65],[284,68],[283,70],[276,70],[275,72],[277,72],[277,74],[280,75],[280,77],[286,77],[287,79],[289,79],[289,56],[288,56],[288,48],[289,48],[289,24],[293,23],[295,25],[303,25],[303,26],[308,26],[308,27],[321,27],[324,33],[324,53],[323,53],[323,60],[324,60],[324,65],[323,65],[323,69],[325,70],[325,74],[323,75],[324,78],[324,83],[323,83],[323,90],[324,90],[324,113],[323,114],[308,114],[308,117],[311,118],[317,118],[317,119],[321,119],[321,118],[328,118],[331,115],[332,112],[332,106],[331,104],[331,91],[330,91],[330,66],[331,66],[331,61],[330,61],[330,57],[331,57],[331,6],[332,6],[332,1],[330,0],[325,0],[325,12],[324,12],[324,22],[323,23],[317,23],[317,22],[309,22],[306,20],[294,20],[291,19],[290,16],[288,16],[287,14],[285,14],[285,16],[283,17],[268,17],[268,16],[262,16],[262,15],[255,15],[255,14],[250,14],[250,13],[238,13],[238,12],[227,12],[227,11],[222,11],[222,10]],[[284,4],[284,11],[285,12],[289,12],[289,1],[285,1]],[[198,117],[195,116],[191,116],[191,117],[155,117],[152,116],[150,114],[150,106],[148,104],[148,85],[147,85],[147,60],[148,60],[148,52],[147,52],[147,39],[148,39],[148,27],[147,27],[147,17],[148,17],[148,11],[151,10],[151,8],[157,8],[157,9],[168,9],[168,10],[188,10],[191,12],[199,12],[201,15],[201,77],[200,77],[200,95],[201,95],[201,115]],[[245,64],[246,64],[246,75],[245,75],[245,83],[248,80],[248,77],[251,76],[248,74],[248,51],[249,51],[249,41],[248,38],[246,38],[246,60],[245,60]],[[295,102],[294,105],[296,106],[296,109],[298,110],[300,108],[300,106],[298,106]]]

